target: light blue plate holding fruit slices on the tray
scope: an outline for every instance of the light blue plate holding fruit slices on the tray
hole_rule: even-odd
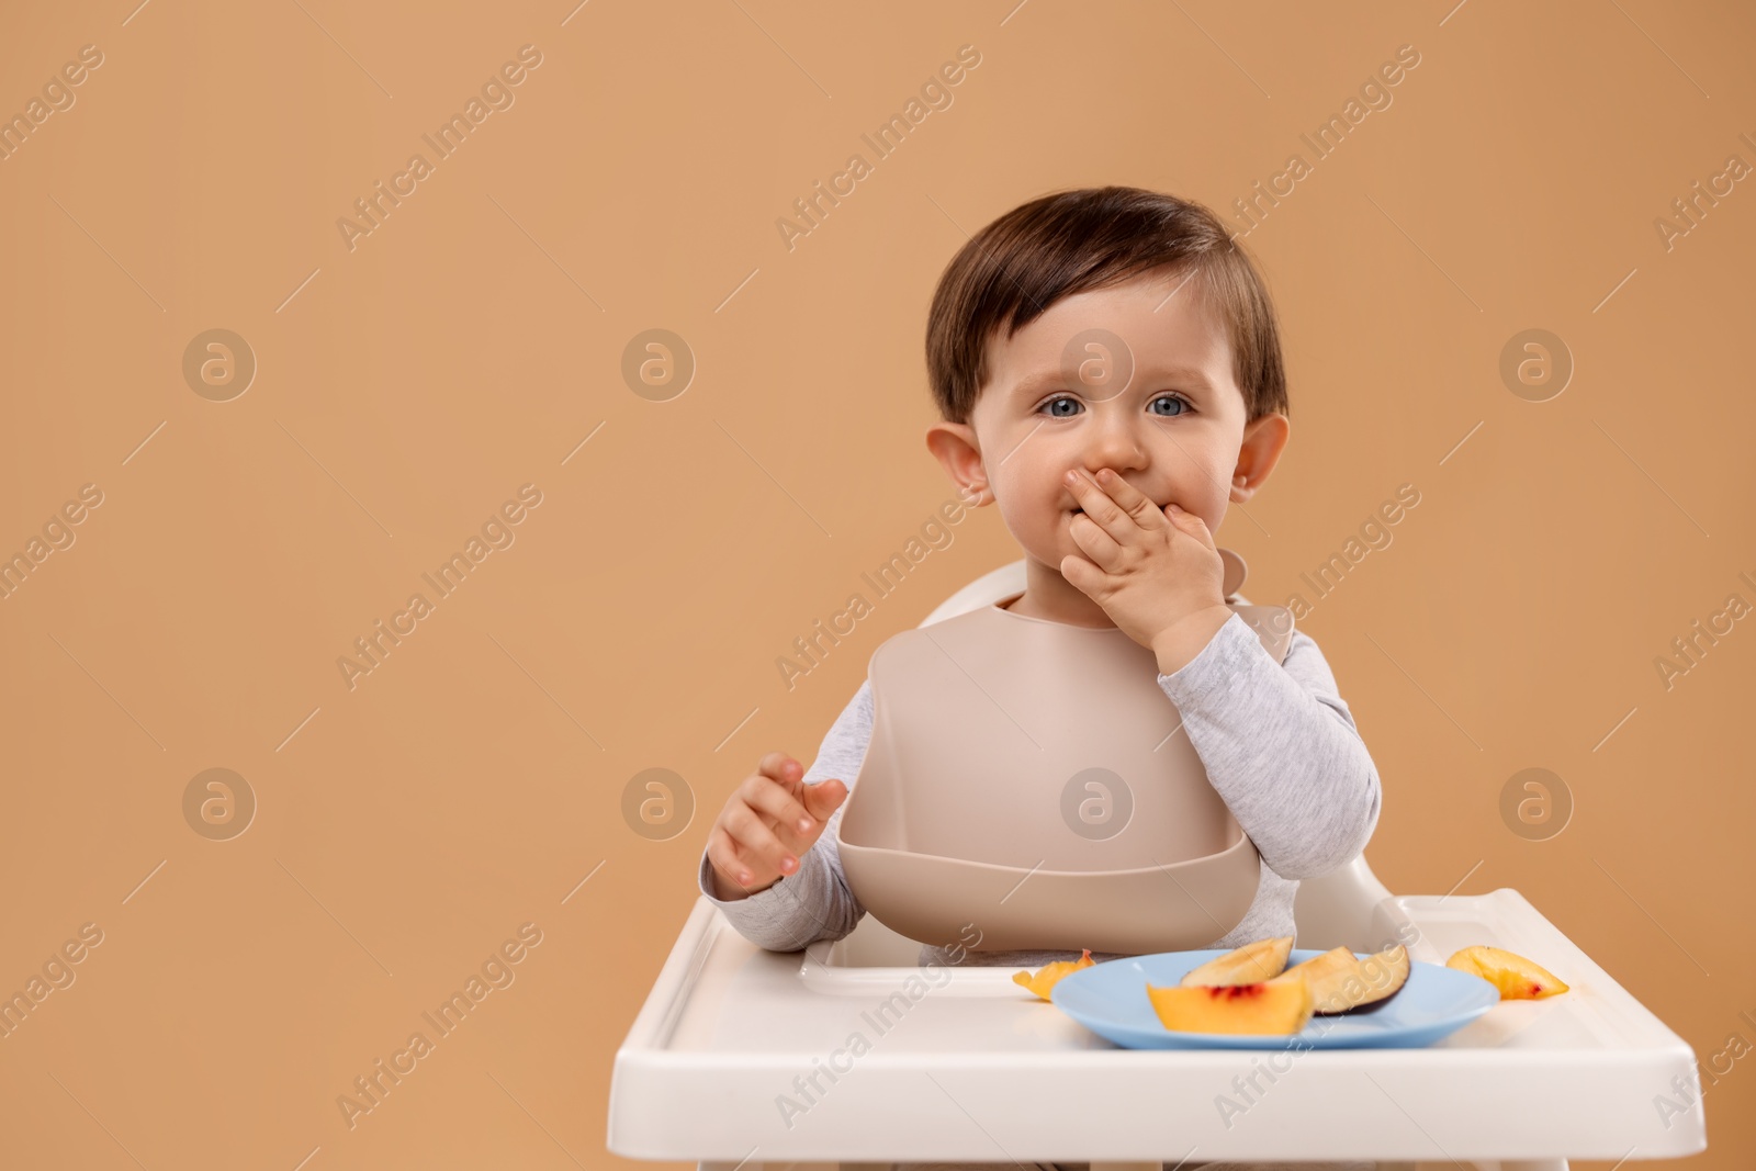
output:
[[[1500,1002],[1500,988],[1480,976],[1412,960],[1408,981],[1378,1008],[1312,1017],[1299,1032],[1177,1032],[1159,1024],[1147,999],[1147,983],[1175,985],[1198,964],[1226,955],[1231,948],[1206,952],[1157,952],[1105,960],[1062,976],[1050,1001],[1098,1036],[1131,1050],[1226,1048],[1419,1048],[1463,1029]],[[1294,948],[1287,964],[1322,955]],[[1356,952],[1366,959],[1366,952]]]

